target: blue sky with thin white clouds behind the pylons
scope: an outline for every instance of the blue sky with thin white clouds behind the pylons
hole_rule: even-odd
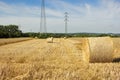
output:
[[[120,33],[120,0],[45,0],[47,32]],[[40,31],[41,0],[0,0],[0,25]]]

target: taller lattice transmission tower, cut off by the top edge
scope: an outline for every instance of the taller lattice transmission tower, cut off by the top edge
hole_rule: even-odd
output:
[[[40,33],[47,33],[45,0],[41,0]]]

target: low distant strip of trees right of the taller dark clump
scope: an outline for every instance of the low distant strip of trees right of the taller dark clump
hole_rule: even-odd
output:
[[[38,38],[48,38],[48,37],[54,37],[54,38],[61,38],[61,37],[120,37],[120,34],[111,34],[111,33],[24,33],[24,35],[29,37],[38,37]]]

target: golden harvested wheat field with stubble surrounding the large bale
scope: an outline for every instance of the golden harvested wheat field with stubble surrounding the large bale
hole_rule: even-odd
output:
[[[114,56],[120,48],[113,39]],[[85,38],[32,39],[0,46],[0,80],[120,80],[120,63],[89,63]],[[104,57],[104,56],[103,56]]]

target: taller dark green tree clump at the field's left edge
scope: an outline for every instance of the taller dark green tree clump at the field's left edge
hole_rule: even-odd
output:
[[[0,25],[0,38],[21,37],[22,31],[17,25]]]

